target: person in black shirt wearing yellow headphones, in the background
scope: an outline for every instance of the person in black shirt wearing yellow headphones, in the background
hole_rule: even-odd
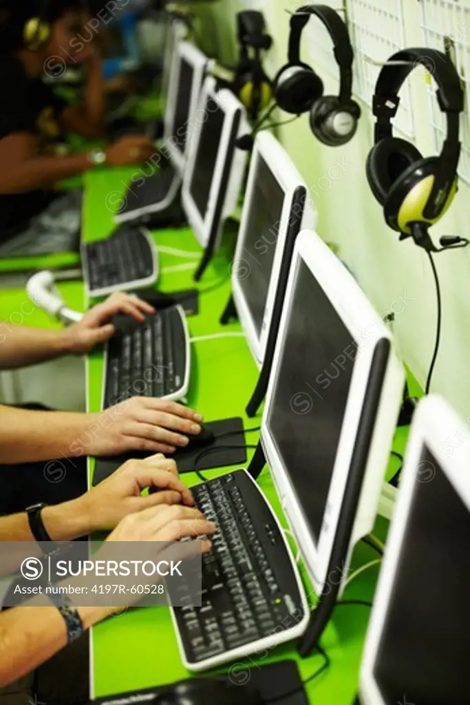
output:
[[[75,251],[80,192],[55,186],[96,166],[140,164],[154,154],[149,137],[123,137],[106,149],[51,156],[61,131],[104,134],[104,86],[97,42],[84,35],[82,0],[0,0],[0,256]],[[93,35],[94,36],[94,35]],[[83,64],[82,104],[68,105],[44,79]]]

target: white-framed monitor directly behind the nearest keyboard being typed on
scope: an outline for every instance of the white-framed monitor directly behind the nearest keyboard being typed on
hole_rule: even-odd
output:
[[[262,443],[317,593],[376,518],[404,372],[390,331],[314,231],[297,238]]]

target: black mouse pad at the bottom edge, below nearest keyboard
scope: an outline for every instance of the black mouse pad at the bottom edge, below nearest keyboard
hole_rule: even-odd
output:
[[[199,676],[199,678],[204,677]],[[251,692],[253,690],[257,692],[261,703],[276,702],[276,705],[309,705],[295,661],[278,661],[278,663],[268,663],[266,666],[251,669],[240,663],[232,667],[230,675],[218,675],[213,678],[230,682],[230,685],[234,687],[234,695],[239,697],[239,700],[234,699],[233,702],[240,702],[240,705],[251,703],[249,699],[250,689]],[[171,695],[175,685],[177,684],[163,685],[145,690],[133,690],[120,695],[97,698],[91,702],[97,705],[131,705],[132,703],[137,704],[140,702],[159,705],[161,697]],[[199,701],[195,699],[194,702],[199,704]],[[205,705],[224,705],[220,701],[211,699],[210,695],[207,697],[206,693],[201,702],[205,703]]]

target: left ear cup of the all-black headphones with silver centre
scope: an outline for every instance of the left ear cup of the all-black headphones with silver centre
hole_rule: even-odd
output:
[[[278,73],[275,96],[286,113],[307,113],[322,95],[323,81],[309,66],[286,66]]]

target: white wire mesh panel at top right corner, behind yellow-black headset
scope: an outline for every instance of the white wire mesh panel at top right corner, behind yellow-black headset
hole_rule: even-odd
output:
[[[441,51],[450,49],[452,60],[464,82],[466,98],[470,90],[470,0],[422,0],[421,28],[424,44]],[[435,86],[429,81],[429,114],[435,146],[440,150],[446,134],[445,116],[435,99]],[[468,105],[468,100],[466,101]],[[462,157],[459,176],[470,183],[470,118],[466,111],[461,120]]]

